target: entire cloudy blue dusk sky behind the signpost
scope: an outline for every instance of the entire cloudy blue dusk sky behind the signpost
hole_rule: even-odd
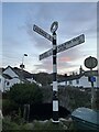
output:
[[[0,4],[1,6],[1,4]],[[53,73],[52,56],[38,56],[52,48],[52,43],[33,31],[36,24],[48,34],[58,22],[57,45],[80,34],[85,43],[57,54],[57,73],[78,72],[84,61],[97,57],[97,2],[2,2],[1,66],[20,67],[23,54],[25,70]]]

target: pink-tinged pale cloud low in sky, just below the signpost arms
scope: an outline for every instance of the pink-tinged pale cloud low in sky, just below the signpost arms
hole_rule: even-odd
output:
[[[74,52],[75,51],[75,52]],[[79,58],[82,57],[81,52],[78,51],[77,47],[69,48],[68,51],[64,51],[63,53],[57,54],[57,70],[58,73],[66,73],[69,70],[74,70],[79,67],[79,64],[76,63]],[[50,56],[41,61],[40,65],[35,65],[36,70],[53,73],[53,57]]]

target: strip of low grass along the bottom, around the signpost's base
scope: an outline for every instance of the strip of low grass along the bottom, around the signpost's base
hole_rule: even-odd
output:
[[[35,131],[56,131],[64,132],[65,130],[73,130],[73,122],[68,123],[67,120],[59,121],[59,123],[53,123],[52,120],[37,121],[34,120],[30,123],[20,123],[11,121],[11,117],[6,117],[2,121],[2,129],[6,130],[35,130]],[[68,125],[70,124],[70,125]]]

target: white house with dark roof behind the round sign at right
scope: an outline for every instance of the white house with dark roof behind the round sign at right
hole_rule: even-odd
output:
[[[96,73],[95,74],[96,81],[94,82],[94,87],[99,88],[98,70],[94,70],[92,73]],[[66,76],[64,81],[58,82],[58,86],[74,86],[74,87],[90,88],[91,82],[89,81],[89,77],[88,77],[89,75],[88,74],[90,74],[90,70],[79,73],[79,75]]]

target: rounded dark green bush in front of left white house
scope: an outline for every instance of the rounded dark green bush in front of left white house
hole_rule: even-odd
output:
[[[42,102],[42,91],[36,84],[16,84],[9,91],[11,100],[19,105]]]

